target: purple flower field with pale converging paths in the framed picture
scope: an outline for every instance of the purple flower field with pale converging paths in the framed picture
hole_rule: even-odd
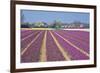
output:
[[[21,62],[89,59],[89,31],[21,30]]]

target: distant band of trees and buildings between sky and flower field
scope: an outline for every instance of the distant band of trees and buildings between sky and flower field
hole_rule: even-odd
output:
[[[33,22],[33,23],[21,23],[21,28],[55,28],[55,29],[66,29],[66,28],[89,28],[89,24],[82,22],[62,23],[60,21],[54,21],[53,23],[46,22]]]

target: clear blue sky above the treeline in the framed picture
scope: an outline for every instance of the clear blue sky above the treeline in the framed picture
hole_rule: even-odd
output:
[[[56,11],[39,11],[39,10],[21,10],[23,22],[39,22],[52,23],[59,20],[63,23],[72,23],[80,21],[89,24],[89,13],[79,12],[56,12]]]

